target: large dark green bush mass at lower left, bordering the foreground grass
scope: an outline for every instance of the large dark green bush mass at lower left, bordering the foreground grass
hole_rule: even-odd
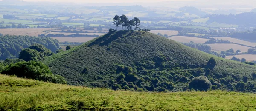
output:
[[[34,80],[49,81],[52,83],[66,84],[64,77],[53,75],[49,68],[41,62],[17,62],[6,66],[2,74],[26,77]]]

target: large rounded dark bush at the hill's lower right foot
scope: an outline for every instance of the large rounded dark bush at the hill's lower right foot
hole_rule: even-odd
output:
[[[196,89],[200,91],[207,91],[211,87],[211,82],[205,76],[195,77],[189,83],[190,89]]]

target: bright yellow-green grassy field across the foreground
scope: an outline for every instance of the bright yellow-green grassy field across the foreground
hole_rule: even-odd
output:
[[[255,97],[226,91],[113,91],[0,75],[1,111],[254,111]]]

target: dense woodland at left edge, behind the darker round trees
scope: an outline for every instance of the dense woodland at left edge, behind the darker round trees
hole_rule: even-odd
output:
[[[52,52],[60,48],[58,40],[49,37],[4,35],[0,36],[0,60],[17,58],[20,51],[35,43],[46,46]]]

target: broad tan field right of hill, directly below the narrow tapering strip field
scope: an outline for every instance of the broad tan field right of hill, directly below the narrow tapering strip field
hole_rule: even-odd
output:
[[[215,51],[227,51],[228,49],[233,48],[234,51],[240,50],[241,52],[247,52],[250,47],[241,46],[237,44],[226,44],[226,43],[215,43],[215,44],[207,44],[212,47],[212,50]]]

